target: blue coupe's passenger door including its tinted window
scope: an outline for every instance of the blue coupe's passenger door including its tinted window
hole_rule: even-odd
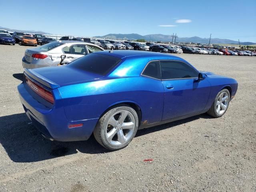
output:
[[[186,62],[161,60],[164,86],[162,120],[203,111],[210,94],[208,80],[198,80],[198,71]]]

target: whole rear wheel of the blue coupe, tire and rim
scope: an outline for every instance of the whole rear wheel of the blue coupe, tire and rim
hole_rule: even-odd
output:
[[[108,110],[94,129],[99,144],[109,150],[126,147],[138,130],[138,115],[128,105],[117,105]]]

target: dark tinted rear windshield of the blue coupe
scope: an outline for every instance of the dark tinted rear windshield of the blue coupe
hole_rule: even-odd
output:
[[[69,66],[80,70],[105,75],[115,66],[120,63],[121,59],[103,55],[103,54],[88,54],[69,64]]]

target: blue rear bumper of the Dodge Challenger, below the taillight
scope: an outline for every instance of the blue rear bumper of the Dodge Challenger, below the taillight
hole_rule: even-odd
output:
[[[60,96],[56,96],[57,99],[54,105],[49,108],[38,102],[36,98],[40,96],[34,93],[26,83],[18,86],[18,92],[28,118],[43,135],[52,140],[87,140],[98,122],[98,118],[78,121],[67,120]],[[58,90],[56,90],[56,93],[58,93]],[[82,124],[82,126],[68,128],[72,124]]]

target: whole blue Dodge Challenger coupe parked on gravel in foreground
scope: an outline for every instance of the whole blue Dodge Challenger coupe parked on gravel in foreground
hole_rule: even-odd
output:
[[[126,147],[138,129],[207,112],[221,117],[236,80],[196,70],[182,58],[143,51],[101,51],[66,66],[25,69],[24,110],[50,140]]]

